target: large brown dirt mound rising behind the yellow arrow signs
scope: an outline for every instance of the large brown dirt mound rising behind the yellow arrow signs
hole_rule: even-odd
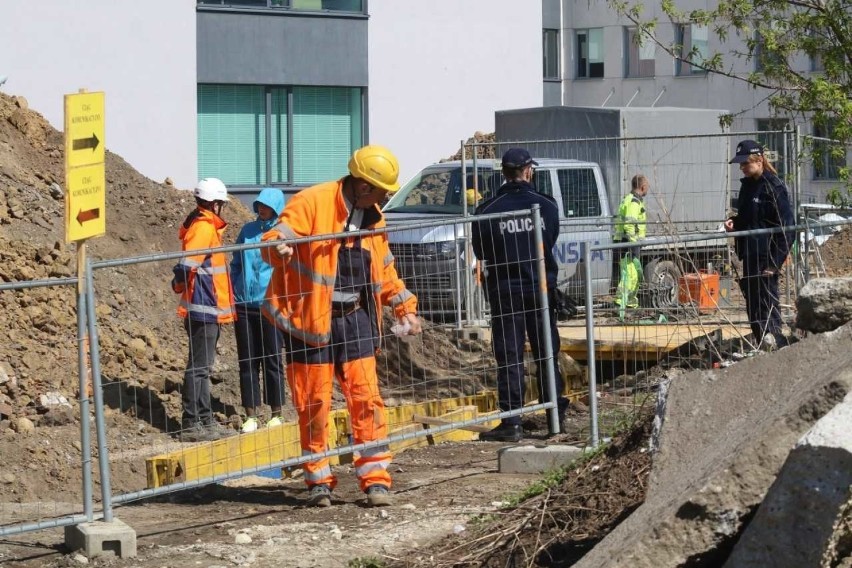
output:
[[[144,177],[109,151],[105,167],[107,234],[89,240],[89,256],[117,259],[179,250],[178,226],[195,206],[192,195]],[[76,276],[75,245],[64,242],[63,183],[62,133],[28,109],[24,99],[0,93],[0,280]],[[224,217],[228,243],[254,215],[234,200]],[[169,287],[172,264],[136,264],[94,275],[113,453],[128,439],[142,442],[140,436],[178,428],[187,345],[175,314],[177,297]],[[69,499],[77,496],[79,467],[69,468],[73,460],[68,459],[79,453],[71,447],[79,440],[76,315],[73,286],[0,292],[0,329],[5,330],[0,341],[0,454],[9,466],[6,471],[16,478],[15,483],[0,483],[0,497],[26,500],[39,493],[61,498],[63,491]],[[220,419],[238,421],[233,334],[233,326],[223,327],[213,405]],[[380,357],[380,376],[391,393],[407,387],[416,395],[411,385],[419,383],[426,390],[431,385],[431,396],[471,392],[474,383],[459,377],[460,369],[488,356],[481,346],[459,352],[449,330],[432,329],[410,345],[389,339]],[[339,393],[336,399],[340,404]],[[285,411],[293,417],[291,405]],[[32,427],[37,435],[26,437]],[[60,470],[61,476],[50,473]],[[126,486],[138,488],[144,471],[126,473]],[[68,476],[73,479],[66,483]]]

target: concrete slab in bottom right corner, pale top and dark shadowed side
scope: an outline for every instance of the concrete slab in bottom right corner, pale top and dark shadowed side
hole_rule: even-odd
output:
[[[852,395],[790,452],[725,568],[820,566],[852,486]]]

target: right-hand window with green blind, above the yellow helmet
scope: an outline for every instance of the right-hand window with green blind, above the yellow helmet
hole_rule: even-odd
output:
[[[346,175],[349,156],[360,140],[359,89],[293,88],[295,183],[318,183]]]

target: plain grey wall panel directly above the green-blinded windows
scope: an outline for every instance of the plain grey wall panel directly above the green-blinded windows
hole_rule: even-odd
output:
[[[198,82],[367,86],[367,17],[199,9]]]

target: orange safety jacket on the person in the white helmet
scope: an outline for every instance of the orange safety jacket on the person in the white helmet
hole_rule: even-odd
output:
[[[183,250],[222,246],[222,234],[227,226],[221,217],[199,207],[178,231]],[[174,271],[172,287],[181,295],[177,309],[180,317],[211,323],[230,323],[237,319],[225,253],[186,256]]]

